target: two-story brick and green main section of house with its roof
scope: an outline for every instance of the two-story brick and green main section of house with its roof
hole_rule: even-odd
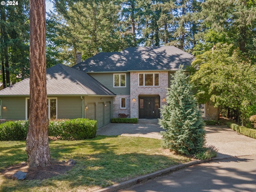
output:
[[[180,64],[190,66],[194,59],[174,46],[130,47],[97,54],[72,68],[90,74],[116,94],[114,118],[160,118],[159,108],[166,104],[171,75]],[[202,111],[205,114],[204,108]]]

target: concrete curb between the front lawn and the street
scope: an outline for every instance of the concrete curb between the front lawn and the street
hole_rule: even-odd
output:
[[[101,188],[101,189],[95,190],[93,192],[115,192],[117,190],[121,190],[123,188],[127,188],[127,187],[133,186],[135,184],[139,184],[140,182],[144,182],[146,180],[149,180],[149,179],[152,179],[152,178],[164,175],[164,174],[168,174],[172,171],[176,171],[176,170],[179,170],[182,168],[190,167],[192,165],[196,165],[196,164],[200,164],[200,163],[204,163],[204,162],[208,162],[208,161],[209,160],[195,160],[195,161],[179,164],[179,165],[172,166],[172,167],[169,167],[169,168],[166,168],[163,170],[159,170],[159,171],[156,171],[153,173],[139,176],[137,178],[133,178],[133,179],[130,179],[130,180],[118,183],[118,184],[114,184],[114,185],[108,186],[106,188]]]

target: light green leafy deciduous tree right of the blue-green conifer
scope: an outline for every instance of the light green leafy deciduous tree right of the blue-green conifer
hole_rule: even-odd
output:
[[[251,65],[232,44],[216,44],[214,51],[197,56],[192,65],[198,68],[191,78],[198,101],[211,100],[216,107],[238,110],[244,124],[246,108],[256,101],[256,65]]]

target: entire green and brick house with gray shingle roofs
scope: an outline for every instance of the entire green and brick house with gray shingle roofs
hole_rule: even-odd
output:
[[[78,59],[80,54],[78,55]],[[47,70],[49,118],[90,118],[98,128],[112,117],[160,118],[171,75],[194,56],[174,46],[130,47],[99,53],[72,68]],[[28,119],[29,79],[0,91],[1,119]],[[202,114],[215,118],[216,112]]]

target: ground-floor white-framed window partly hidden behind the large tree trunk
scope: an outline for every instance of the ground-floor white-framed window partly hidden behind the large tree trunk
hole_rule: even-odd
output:
[[[47,98],[48,118],[57,119],[57,98]],[[26,120],[29,119],[29,98],[26,98]]]

